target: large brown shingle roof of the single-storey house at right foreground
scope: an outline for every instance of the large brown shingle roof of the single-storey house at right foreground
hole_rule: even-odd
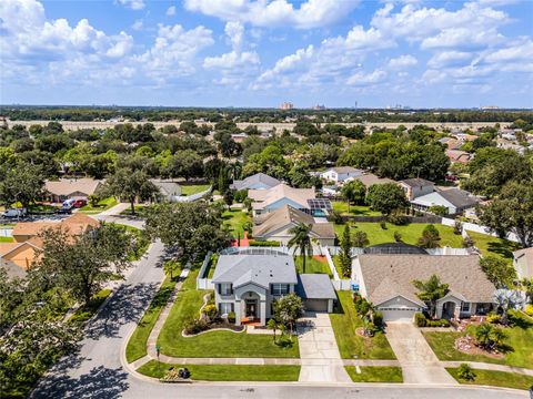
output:
[[[366,295],[375,305],[395,296],[421,304],[412,282],[439,276],[450,293],[467,301],[492,303],[496,289],[480,267],[477,255],[359,255]]]

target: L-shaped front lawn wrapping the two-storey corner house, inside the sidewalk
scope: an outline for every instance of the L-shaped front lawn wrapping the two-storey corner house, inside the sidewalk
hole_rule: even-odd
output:
[[[210,331],[195,337],[181,335],[184,323],[197,318],[207,290],[195,289],[198,269],[192,270],[178,294],[167,323],[158,338],[161,352],[174,357],[280,357],[298,358],[298,339],[292,345],[274,344],[270,335]]]

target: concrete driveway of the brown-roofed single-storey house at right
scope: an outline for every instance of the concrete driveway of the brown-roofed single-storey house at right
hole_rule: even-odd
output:
[[[422,332],[412,323],[389,323],[386,338],[400,361],[404,382],[457,383],[444,367],[440,366]]]

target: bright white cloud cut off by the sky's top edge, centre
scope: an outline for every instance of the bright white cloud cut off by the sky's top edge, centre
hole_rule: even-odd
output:
[[[185,0],[184,7],[189,11],[255,27],[310,29],[345,18],[358,3],[358,0],[306,0],[294,8],[286,0]]]

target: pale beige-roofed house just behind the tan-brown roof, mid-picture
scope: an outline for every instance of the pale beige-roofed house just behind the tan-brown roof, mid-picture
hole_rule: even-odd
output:
[[[310,211],[308,201],[314,200],[315,193],[314,188],[293,188],[286,184],[279,184],[268,190],[250,190],[248,196],[252,200],[253,215],[258,216],[275,211],[283,205]]]

